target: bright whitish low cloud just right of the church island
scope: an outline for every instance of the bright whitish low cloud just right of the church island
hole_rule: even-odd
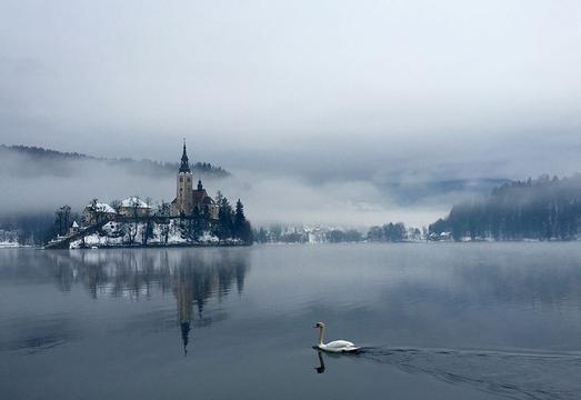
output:
[[[427,224],[447,206],[405,207],[371,181],[312,183],[291,176],[239,172],[220,182],[227,197],[241,197],[256,224],[321,224],[363,228],[388,221]]]

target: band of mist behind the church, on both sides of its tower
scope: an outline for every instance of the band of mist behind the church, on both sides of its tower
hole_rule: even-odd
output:
[[[176,171],[177,173],[177,171]],[[367,228],[388,221],[427,226],[451,203],[489,191],[499,181],[380,180],[371,176],[307,179],[298,174],[234,170],[226,178],[194,173],[211,196],[241,199],[257,226],[270,223]],[[423,178],[422,178],[423,179]],[[0,160],[0,213],[52,212],[63,204],[82,211],[130,196],[153,206],[176,197],[170,171],[128,169],[93,159],[38,160],[9,154]]]

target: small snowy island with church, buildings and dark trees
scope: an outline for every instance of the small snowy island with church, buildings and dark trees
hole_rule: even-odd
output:
[[[138,196],[111,203],[93,199],[74,218],[69,206],[57,211],[57,237],[44,249],[111,247],[250,246],[252,228],[238,199],[212,199],[201,179],[193,188],[186,141],[176,179],[176,198],[153,207]]]

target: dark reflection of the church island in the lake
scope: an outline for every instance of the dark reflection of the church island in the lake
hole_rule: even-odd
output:
[[[248,249],[120,249],[47,253],[62,291],[81,282],[94,299],[150,298],[171,291],[176,297],[178,323],[184,354],[194,322],[204,318],[209,299],[226,297],[236,283],[239,293],[249,270]],[[196,311],[194,311],[196,309]]]

